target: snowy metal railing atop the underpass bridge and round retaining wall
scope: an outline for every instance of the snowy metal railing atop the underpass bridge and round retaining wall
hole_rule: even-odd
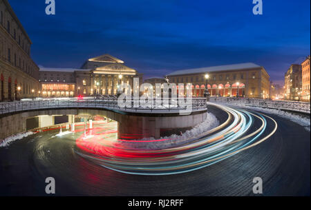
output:
[[[192,98],[187,103],[186,98],[168,98],[167,100],[156,101],[149,105],[143,105],[142,101],[130,99],[124,107],[120,107],[117,98],[110,99],[69,99],[69,100],[39,100],[39,101],[14,101],[0,103],[0,114],[13,112],[31,111],[37,109],[59,109],[59,108],[103,108],[124,112],[156,112],[168,113],[179,112],[180,110],[205,110],[207,109],[206,98]]]

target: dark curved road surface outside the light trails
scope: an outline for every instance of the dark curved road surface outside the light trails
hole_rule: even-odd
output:
[[[0,148],[0,196],[46,196],[49,176],[55,178],[57,196],[254,196],[254,177],[263,179],[263,196],[310,196],[310,132],[266,115],[278,129],[263,143],[209,167],[169,176],[122,174],[95,165],[75,153],[75,141],[51,138],[58,131],[28,136]],[[252,129],[258,126],[255,121]]]

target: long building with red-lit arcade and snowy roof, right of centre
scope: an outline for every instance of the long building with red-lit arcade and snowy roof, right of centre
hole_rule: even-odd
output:
[[[206,87],[211,96],[270,97],[270,76],[254,63],[180,70],[167,74],[167,78],[170,83],[192,84],[192,96],[197,97],[203,96]]]

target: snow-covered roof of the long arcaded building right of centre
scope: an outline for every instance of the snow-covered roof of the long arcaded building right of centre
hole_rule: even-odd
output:
[[[200,67],[194,68],[189,70],[178,70],[175,72],[171,72],[167,74],[167,76],[176,76],[176,75],[183,75],[183,74],[199,74],[199,73],[206,73],[206,72],[218,72],[218,71],[233,71],[233,70],[245,70],[250,68],[259,68],[260,65],[256,65],[255,63],[238,63],[232,65],[218,65],[212,67]]]

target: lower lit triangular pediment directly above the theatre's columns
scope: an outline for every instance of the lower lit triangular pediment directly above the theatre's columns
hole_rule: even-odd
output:
[[[136,74],[136,70],[121,63],[111,63],[109,65],[97,67],[93,72],[97,74]]]

